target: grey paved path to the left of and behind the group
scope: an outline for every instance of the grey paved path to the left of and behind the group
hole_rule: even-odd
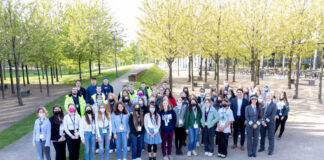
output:
[[[121,91],[123,85],[128,83],[128,75],[130,73],[137,73],[143,71],[150,66],[151,64],[137,65],[136,68],[132,69],[131,71],[127,72],[126,74],[113,81],[111,85],[114,87],[115,95],[117,95]],[[20,138],[19,140],[10,144],[9,146],[1,149],[0,155],[2,158],[6,157],[6,160],[36,160],[37,152],[36,148],[34,148],[32,145],[32,132],[28,133],[26,136]],[[52,159],[55,159],[55,149],[53,145],[51,145],[51,157]],[[80,157],[83,157],[83,155]]]

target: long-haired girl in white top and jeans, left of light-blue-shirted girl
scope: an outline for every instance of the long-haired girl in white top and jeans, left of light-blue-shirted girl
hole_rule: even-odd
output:
[[[99,160],[103,160],[104,151],[105,151],[105,160],[108,160],[109,145],[110,145],[111,134],[112,134],[110,110],[109,107],[106,107],[105,104],[100,104],[98,110],[99,112],[96,118],[96,129],[97,129],[97,136],[99,141]]]

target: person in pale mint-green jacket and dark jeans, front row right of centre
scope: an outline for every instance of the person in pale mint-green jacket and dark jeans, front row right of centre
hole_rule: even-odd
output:
[[[201,117],[201,124],[203,128],[203,141],[206,156],[213,156],[214,153],[214,136],[215,126],[219,120],[217,110],[212,106],[210,98],[206,98],[202,107],[204,115]]]

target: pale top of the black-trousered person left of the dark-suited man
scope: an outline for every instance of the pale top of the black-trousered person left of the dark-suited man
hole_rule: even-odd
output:
[[[226,123],[228,121],[234,121],[234,117],[233,117],[233,112],[231,110],[230,107],[228,107],[227,109],[225,108],[220,108],[218,110],[218,114],[219,114],[219,126],[223,127],[226,125]],[[219,131],[218,128],[216,129],[216,131]],[[224,131],[224,133],[231,133],[231,125],[228,125]]]

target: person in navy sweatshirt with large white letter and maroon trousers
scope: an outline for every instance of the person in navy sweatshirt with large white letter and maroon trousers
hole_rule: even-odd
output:
[[[177,123],[177,116],[172,110],[171,104],[168,100],[162,102],[161,110],[159,112],[161,117],[161,136],[162,136],[162,155],[164,160],[173,160],[172,140],[173,130]],[[166,148],[168,150],[166,150]]]

